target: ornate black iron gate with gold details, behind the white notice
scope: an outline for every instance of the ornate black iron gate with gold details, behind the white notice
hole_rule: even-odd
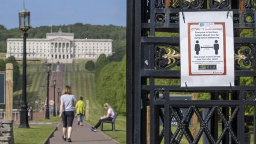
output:
[[[150,143],[198,143],[203,133],[210,143],[245,143],[245,109],[251,106],[256,112],[255,6],[256,1],[250,0],[127,0],[127,143],[146,143],[146,106],[150,106]],[[180,79],[179,36],[171,34],[179,31],[179,12],[223,10],[233,11],[235,86],[157,84],[158,78]],[[242,29],[251,30],[252,35],[243,37]],[[252,78],[253,83],[241,85],[242,77]],[[170,101],[172,92],[205,92],[210,98]],[[188,108],[185,116],[180,108]],[[205,117],[203,108],[209,109]],[[188,126],[193,114],[200,123],[196,137]],[[172,118],[178,122],[177,129],[170,124]],[[254,115],[250,130],[254,135],[255,121]]]

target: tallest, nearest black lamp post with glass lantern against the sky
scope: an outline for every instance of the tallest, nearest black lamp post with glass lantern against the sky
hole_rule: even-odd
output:
[[[28,105],[27,105],[27,79],[26,79],[26,37],[27,31],[30,29],[30,12],[26,9],[19,12],[19,28],[23,32],[23,73],[22,73],[22,100],[21,100],[21,110],[20,110],[20,128],[29,128],[28,125]]]

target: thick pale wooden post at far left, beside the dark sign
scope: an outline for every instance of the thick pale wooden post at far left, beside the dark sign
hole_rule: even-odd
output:
[[[13,65],[6,63],[6,96],[5,96],[5,119],[12,120],[13,108]]]

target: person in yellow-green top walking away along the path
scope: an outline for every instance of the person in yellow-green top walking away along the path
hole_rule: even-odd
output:
[[[76,114],[77,114],[77,125],[83,126],[83,119],[85,115],[85,103],[83,97],[80,97],[80,100],[76,103]]]

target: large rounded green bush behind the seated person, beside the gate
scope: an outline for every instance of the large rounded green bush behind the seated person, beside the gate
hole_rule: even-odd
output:
[[[96,95],[101,104],[108,102],[117,113],[126,113],[126,56],[121,62],[110,62],[100,70]]]

